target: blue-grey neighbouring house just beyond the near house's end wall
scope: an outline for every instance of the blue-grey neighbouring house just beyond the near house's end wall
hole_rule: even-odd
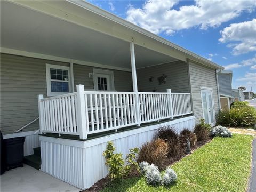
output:
[[[232,71],[221,70],[217,74],[221,109],[230,109],[230,105],[234,102],[232,95]]]

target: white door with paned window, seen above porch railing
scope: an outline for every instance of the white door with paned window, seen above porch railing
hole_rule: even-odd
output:
[[[96,91],[113,91],[113,71],[93,69],[94,89]]]

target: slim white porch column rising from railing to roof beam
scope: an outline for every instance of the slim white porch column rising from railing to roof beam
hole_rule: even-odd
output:
[[[130,52],[131,52],[131,65],[132,65],[132,86],[133,92],[135,92],[135,108],[136,108],[136,117],[138,126],[140,126],[140,106],[139,106],[139,93],[137,86],[137,73],[136,73],[136,63],[135,63],[135,51],[133,40],[130,43]]]

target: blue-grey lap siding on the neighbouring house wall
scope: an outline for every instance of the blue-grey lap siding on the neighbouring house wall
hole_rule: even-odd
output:
[[[218,74],[219,90],[220,94],[232,95],[231,75],[230,74]]]

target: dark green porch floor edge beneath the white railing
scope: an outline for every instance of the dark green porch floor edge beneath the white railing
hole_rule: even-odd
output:
[[[107,136],[109,134],[121,133],[121,132],[124,132],[124,131],[138,129],[138,128],[149,126],[149,125],[155,125],[155,124],[160,124],[160,123],[164,123],[164,122],[169,122],[169,121],[172,121],[172,120],[175,120],[175,119],[180,119],[180,118],[184,118],[184,117],[188,117],[188,116],[193,116],[193,114],[184,115],[183,117],[176,117],[176,118],[174,117],[174,119],[164,119],[164,120],[159,121],[159,122],[143,123],[139,127],[138,126],[129,126],[129,127],[124,127],[124,128],[121,128],[121,129],[117,129],[117,131],[109,130],[109,131],[100,132],[100,133],[88,134],[87,139],[80,139],[79,135],[60,134],[60,136],[59,136],[58,133],[46,133],[46,134],[39,134],[39,135],[46,136],[46,137],[61,138],[61,139],[87,141],[87,140],[91,140],[91,139],[104,137],[104,136]]]

